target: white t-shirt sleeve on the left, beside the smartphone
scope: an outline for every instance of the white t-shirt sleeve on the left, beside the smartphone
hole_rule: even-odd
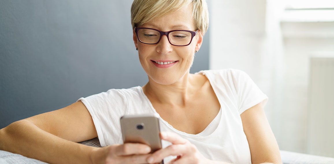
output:
[[[128,101],[122,90],[80,98],[92,116],[101,146],[120,143],[120,118],[128,111]]]

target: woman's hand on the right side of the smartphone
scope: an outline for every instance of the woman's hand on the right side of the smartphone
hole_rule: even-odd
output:
[[[159,163],[165,157],[170,155],[177,156],[177,158],[171,160],[168,164],[205,164],[210,160],[206,159],[196,148],[196,146],[190,143],[188,140],[180,137],[172,132],[161,132],[161,139],[169,141],[172,145],[157,150],[150,157],[147,158],[148,163]]]

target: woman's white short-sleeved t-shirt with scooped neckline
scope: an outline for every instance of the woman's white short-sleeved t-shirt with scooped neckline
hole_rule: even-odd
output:
[[[208,159],[228,163],[251,164],[251,153],[243,132],[240,114],[267,101],[268,97],[243,71],[236,69],[203,70],[220,103],[220,111],[199,134],[174,129],[159,117],[160,130],[175,132],[196,145]],[[80,98],[90,112],[101,146],[122,144],[120,118],[124,115],[156,113],[142,87],[111,89],[107,92]],[[205,109],[203,109],[205,110]],[[163,148],[170,143],[162,141]],[[164,159],[165,162],[175,157]]]

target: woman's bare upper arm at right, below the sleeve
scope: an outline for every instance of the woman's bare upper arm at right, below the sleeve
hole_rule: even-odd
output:
[[[280,150],[262,104],[249,108],[240,117],[251,150],[252,164],[281,164]]]

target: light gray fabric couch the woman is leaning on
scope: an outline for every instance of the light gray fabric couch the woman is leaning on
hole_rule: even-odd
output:
[[[99,139],[94,138],[80,142],[88,146],[101,147]],[[281,157],[284,164],[334,164],[334,158],[321,157],[309,154],[295,153],[281,150]],[[24,157],[0,150],[0,164],[47,164],[45,162]]]

